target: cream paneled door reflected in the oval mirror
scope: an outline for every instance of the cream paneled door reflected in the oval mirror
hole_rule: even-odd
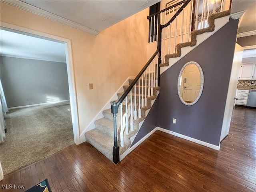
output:
[[[193,102],[200,91],[201,85],[200,72],[196,65],[189,64],[184,69],[183,79],[183,95],[182,98],[186,102]]]

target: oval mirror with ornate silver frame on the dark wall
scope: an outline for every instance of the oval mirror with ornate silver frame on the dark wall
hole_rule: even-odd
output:
[[[204,74],[201,66],[187,62],[178,77],[178,95],[185,105],[194,105],[200,98],[204,87]]]

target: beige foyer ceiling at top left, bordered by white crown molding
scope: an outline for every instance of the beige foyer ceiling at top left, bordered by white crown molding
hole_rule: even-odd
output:
[[[22,1],[98,32],[159,2],[159,0]]]

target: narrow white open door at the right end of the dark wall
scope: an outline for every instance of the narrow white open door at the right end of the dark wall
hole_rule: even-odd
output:
[[[236,87],[237,87],[240,67],[242,64],[243,51],[244,51],[244,48],[236,44],[232,70],[230,74],[229,86],[228,86],[228,95],[226,99],[224,118],[222,122],[222,130],[220,134],[220,141],[222,141],[228,135],[228,132],[229,132],[232,111],[234,107],[234,98],[236,96]]]

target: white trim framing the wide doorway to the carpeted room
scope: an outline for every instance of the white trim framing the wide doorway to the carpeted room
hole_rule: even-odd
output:
[[[70,107],[71,107],[71,115],[72,115],[72,125],[73,125],[73,134],[74,134],[74,142],[75,144],[80,144],[79,140],[79,124],[78,124],[78,107],[76,102],[76,85],[74,80],[74,66],[72,60],[72,48],[71,41],[69,39],[61,38],[58,36],[54,36],[51,34],[31,30],[28,28],[8,24],[5,22],[0,23],[1,27],[16,30],[22,33],[30,34],[31,36],[36,36],[38,38],[47,38],[48,40],[52,40],[55,42],[60,42],[65,44],[65,52],[66,52],[66,63],[67,63],[67,72],[68,72],[68,88],[70,95]]]

